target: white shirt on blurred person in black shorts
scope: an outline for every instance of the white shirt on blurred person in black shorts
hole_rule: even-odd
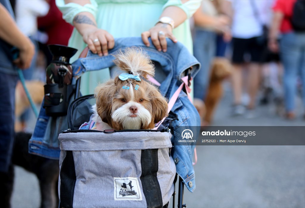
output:
[[[252,1],[252,3],[250,2]],[[262,35],[262,24],[267,22],[269,0],[230,0],[234,10],[232,36],[234,38],[253,38]],[[256,6],[257,16],[254,11]]]

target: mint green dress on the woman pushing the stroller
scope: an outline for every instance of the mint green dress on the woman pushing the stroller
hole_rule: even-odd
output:
[[[95,16],[99,28],[107,30],[113,38],[140,37],[159,20],[163,9],[168,6],[180,7],[190,18],[199,8],[200,0],[191,0],[184,4],[180,0],[90,0],[84,6],[56,0],[56,5],[63,13],[63,19],[73,25],[74,17],[80,12],[90,12]],[[189,21],[173,30],[178,41],[182,42],[192,53],[192,36]],[[68,46],[77,48],[77,53],[70,59],[74,62],[87,46],[82,36],[74,28]],[[97,84],[110,78],[109,69],[86,72],[81,78],[82,95],[93,94]]]

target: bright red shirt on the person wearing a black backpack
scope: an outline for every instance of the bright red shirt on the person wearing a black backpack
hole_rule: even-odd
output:
[[[295,2],[296,0],[276,0],[273,6],[274,12],[281,12],[284,14],[280,26],[280,31],[282,33],[288,33],[292,31],[292,25],[290,23],[290,19],[292,16],[292,9]]]

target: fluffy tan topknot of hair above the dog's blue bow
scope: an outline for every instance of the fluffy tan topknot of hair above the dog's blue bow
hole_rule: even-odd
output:
[[[148,79],[148,76],[153,77],[155,74],[152,61],[141,48],[126,48],[124,52],[120,50],[113,56],[115,57],[113,63],[129,74],[141,76],[145,79]]]

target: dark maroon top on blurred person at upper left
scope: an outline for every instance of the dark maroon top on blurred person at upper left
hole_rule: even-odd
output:
[[[48,34],[48,44],[68,45],[73,26],[63,20],[63,14],[55,4],[55,0],[50,0],[50,10],[46,16],[38,17],[38,27],[43,28]]]

